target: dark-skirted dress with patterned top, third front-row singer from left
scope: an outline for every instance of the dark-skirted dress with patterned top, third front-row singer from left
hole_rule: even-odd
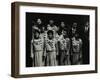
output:
[[[59,55],[60,55],[60,65],[70,64],[70,39],[62,37],[59,42]]]

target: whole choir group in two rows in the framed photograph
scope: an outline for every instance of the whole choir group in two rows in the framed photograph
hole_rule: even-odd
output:
[[[84,33],[89,35],[88,31],[89,22],[86,22]],[[69,28],[64,21],[58,26],[54,20],[49,20],[48,24],[43,26],[42,20],[38,18],[32,26],[32,66],[83,64],[83,44],[85,43],[80,37],[78,23],[73,22]]]

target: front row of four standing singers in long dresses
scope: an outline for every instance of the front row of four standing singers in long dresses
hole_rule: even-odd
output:
[[[58,66],[82,64],[82,40],[75,33],[69,38],[67,30],[55,37],[53,30],[40,34],[34,30],[31,40],[32,66]]]

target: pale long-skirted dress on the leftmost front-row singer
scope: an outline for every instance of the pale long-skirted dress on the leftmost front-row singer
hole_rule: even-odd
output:
[[[44,40],[39,38],[39,39],[34,39],[32,40],[32,46],[33,46],[33,64],[34,66],[43,66],[43,49],[44,49]]]

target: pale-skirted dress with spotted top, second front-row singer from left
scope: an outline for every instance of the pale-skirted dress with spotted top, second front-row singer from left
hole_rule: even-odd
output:
[[[46,39],[46,65],[47,66],[56,66],[56,40],[55,39]]]

